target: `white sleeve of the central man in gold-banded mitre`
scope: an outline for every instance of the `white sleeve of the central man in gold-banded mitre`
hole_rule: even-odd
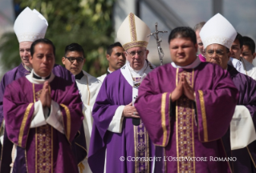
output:
[[[114,133],[121,133],[124,119],[124,117],[122,116],[124,107],[124,105],[117,107],[115,115],[113,116],[113,119],[108,126],[108,131],[112,131]]]

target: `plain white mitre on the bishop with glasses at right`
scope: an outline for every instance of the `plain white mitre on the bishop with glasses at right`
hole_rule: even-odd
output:
[[[216,14],[205,23],[199,34],[205,49],[214,43],[230,49],[238,33],[226,18]]]

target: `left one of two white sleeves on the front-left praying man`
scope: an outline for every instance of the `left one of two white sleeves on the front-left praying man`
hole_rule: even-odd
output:
[[[33,114],[33,119],[30,123],[30,128],[35,128],[35,127],[40,127],[43,125],[46,125],[46,121],[45,121],[45,114],[44,114],[44,110],[43,110],[43,105],[41,103],[41,101],[37,101],[34,104],[35,107],[35,111]]]

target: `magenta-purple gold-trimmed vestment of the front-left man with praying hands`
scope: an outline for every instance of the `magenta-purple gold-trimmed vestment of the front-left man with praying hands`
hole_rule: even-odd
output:
[[[25,171],[79,172],[71,149],[71,141],[83,122],[79,91],[74,82],[57,76],[50,82],[51,99],[59,103],[63,115],[65,134],[62,134],[49,124],[30,128],[34,104],[42,89],[43,84],[33,84],[26,77],[18,78],[6,87],[3,115],[7,136],[18,146],[17,154],[20,149],[25,149]],[[16,159],[20,159],[20,155]],[[23,168],[15,160],[14,171],[25,172]]]

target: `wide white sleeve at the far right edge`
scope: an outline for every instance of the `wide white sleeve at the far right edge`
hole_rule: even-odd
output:
[[[236,106],[230,123],[231,150],[246,147],[254,140],[256,132],[250,111],[245,106]]]

